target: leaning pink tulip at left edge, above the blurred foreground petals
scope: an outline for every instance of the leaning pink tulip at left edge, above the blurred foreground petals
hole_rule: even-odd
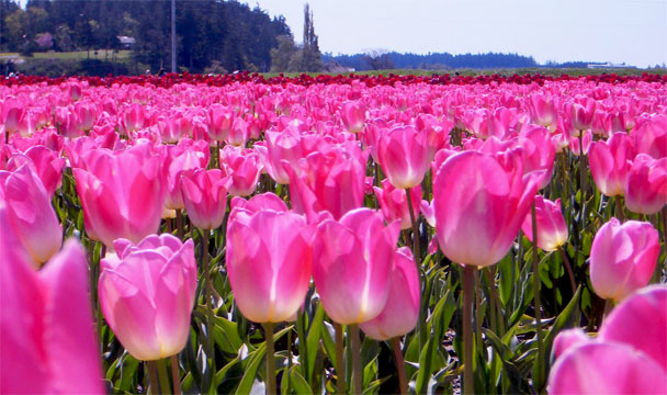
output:
[[[0,171],[0,196],[7,202],[10,228],[33,262],[49,260],[63,245],[63,228],[42,181],[24,165],[13,173]],[[13,246],[12,248],[16,248]]]

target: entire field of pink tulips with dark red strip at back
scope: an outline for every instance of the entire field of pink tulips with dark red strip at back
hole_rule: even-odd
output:
[[[667,76],[21,76],[0,196],[3,394],[667,393]]]

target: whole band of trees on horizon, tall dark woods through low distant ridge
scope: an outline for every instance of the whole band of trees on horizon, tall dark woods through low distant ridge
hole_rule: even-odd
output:
[[[0,0],[0,53],[113,49],[108,61],[33,61],[32,74],[106,75],[169,71],[171,58],[171,2],[165,0]],[[176,5],[177,64],[190,72],[336,71],[377,69],[448,70],[456,68],[538,67],[518,54],[429,53],[381,49],[363,54],[321,54],[313,12],[304,7],[304,36],[296,44],[285,19],[271,18],[259,5],[236,0],[178,0]],[[134,70],[115,54],[129,49]],[[105,53],[108,54],[108,53]],[[56,64],[57,63],[57,64]],[[69,64],[68,64],[69,63]],[[37,65],[38,64],[38,65]],[[36,65],[36,66],[35,66]],[[551,63],[550,67],[585,67],[585,63]]]

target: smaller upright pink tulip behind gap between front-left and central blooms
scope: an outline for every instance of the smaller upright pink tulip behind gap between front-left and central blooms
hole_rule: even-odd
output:
[[[181,181],[185,210],[192,224],[200,229],[219,227],[225,218],[231,178],[219,169],[200,169],[183,176]]]

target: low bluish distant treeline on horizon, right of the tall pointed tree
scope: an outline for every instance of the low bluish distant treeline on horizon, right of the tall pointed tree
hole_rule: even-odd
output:
[[[427,69],[427,70],[448,70],[456,68],[491,69],[491,68],[528,68],[539,67],[532,56],[518,54],[463,54],[452,55],[448,53],[420,54],[399,54],[396,52],[382,53],[370,52],[366,54],[354,55],[331,55],[324,54],[323,61],[336,61],[339,65],[355,70],[373,69]],[[565,64],[550,63],[549,67],[586,67],[585,61],[570,61]]]

